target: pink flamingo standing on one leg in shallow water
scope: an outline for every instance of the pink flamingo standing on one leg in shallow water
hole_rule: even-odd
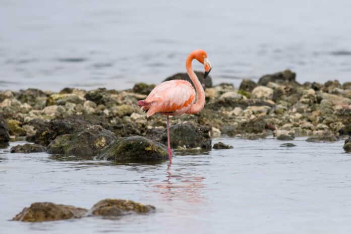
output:
[[[145,100],[138,101],[143,111],[147,111],[147,117],[154,113],[161,113],[167,116],[167,143],[169,164],[172,163],[172,151],[169,143],[169,116],[179,116],[184,113],[198,113],[205,105],[205,92],[202,85],[193,71],[192,61],[196,59],[204,65],[205,75],[207,77],[212,69],[210,62],[207,59],[207,54],[202,49],[197,49],[191,52],[185,62],[187,73],[195,85],[198,93],[198,99],[195,100],[195,90],[193,86],[185,80],[170,80],[158,84],[146,97]]]

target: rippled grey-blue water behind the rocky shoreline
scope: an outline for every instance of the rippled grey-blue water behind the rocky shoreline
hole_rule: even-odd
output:
[[[2,0],[0,89],[158,83],[185,72],[196,48],[208,52],[215,84],[287,68],[299,82],[345,82],[349,9],[347,0]]]

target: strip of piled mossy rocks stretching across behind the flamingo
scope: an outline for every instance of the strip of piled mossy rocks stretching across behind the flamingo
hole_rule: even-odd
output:
[[[187,75],[167,79],[174,78],[187,79]],[[300,84],[289,70],[265,75],[257,83],[243,80],[239,88],[201,81],[206,82],[204,109],[170,119],[173,149],[211,150],[211,138],[219,136],[273,135],[281,141],[304,136],[309,142],[332,142],[351,135],[351,82]],[[1,91],[0,147],[26,140],[35,144],[16,146],[11,152],[165,160],[164,116],[147,119],[137,105],[153,87],[138,83],[128,90]],[[350,152],[351,140],[346,139],[343,148]]]

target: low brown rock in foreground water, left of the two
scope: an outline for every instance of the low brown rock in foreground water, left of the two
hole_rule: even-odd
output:
[[[86,209],[74,206],[54,204],[51,202],[36,202],[31,204],[30,207],[24,208],[12,220],[24,222],[42,222],[80,218],[87,211],[88,210]]]

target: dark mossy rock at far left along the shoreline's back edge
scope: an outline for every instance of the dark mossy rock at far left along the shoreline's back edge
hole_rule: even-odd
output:
[[[18,100],[22,103],[28,103],[34,109],[43,109],[46,106],[47,96],[39,89],[21,90]]]

